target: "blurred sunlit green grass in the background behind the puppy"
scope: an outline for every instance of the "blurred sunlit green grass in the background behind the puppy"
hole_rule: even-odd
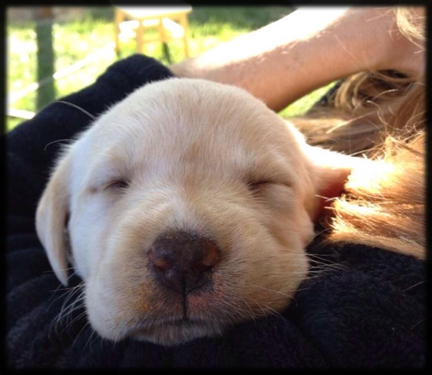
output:
[[[189,16],[191,56],[198,56],[241,34],[253,31],[289,14],[290,7],[194,7]],[[35,23],[7,23],[7,90],[19,92],[37,81],[36,70],[36,33]],[[156,32],[156,31],[155,31]],[[109,7],[89,7],[84,17],[53,25],[55,51],[55,71],[64,69],[84,59],[89,54],[114,41],[113,11]],[[168,43],[172,62],[184,58],[181,40]],[[135,53],[135,39],[121,44],[120,58]],[[161,43],[146,45],[144,53],[168,65]],[[117,60],[115,53],[107,53],[103,58],[76,71],[55,83],[57,97],[80,90],[101,75],[106,68]],[[281,112],[284,117],[304,113],[316,102],[326,88],[300,99]],[[13,107],[36,112],[36,92],[26,95],[13,103]],[[6,118],[7,130],[21,122],[19,119]]]

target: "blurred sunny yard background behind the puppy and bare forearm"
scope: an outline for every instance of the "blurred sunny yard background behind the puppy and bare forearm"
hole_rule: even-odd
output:
[[[263,6],[191,7],[187,14],[187,54],[198,56],[294,10]],[[115,7],[102,6],[7,8],[6,131],[32,118],[50,102],[92,84],[118,59],[137,53],[138,21],[122,19],[119,33],[116,12]],[[140,51],[165,65],[186,58],[181,27],[184,25],[168,21],[163,23],[163,30],[157,25],[144,29],[145,43]],[[151,20],[145,22],[152,26]],[[151,42],[161,31],[171,33],[173,38],[164,43]],[[290,117],[304,113],[326,90],[324,87],[307,95],[280,114]]]

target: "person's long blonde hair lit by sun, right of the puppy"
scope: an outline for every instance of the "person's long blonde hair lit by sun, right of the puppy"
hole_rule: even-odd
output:
[[[395,9],[410,41],[424,41],[424,19]],[[363,154],[375,169],[354,169],[333,201],[325,243],[358,243],[425,257],[425,86],[393,71],[344,80],[330,106],[294,119],[310,144]]]

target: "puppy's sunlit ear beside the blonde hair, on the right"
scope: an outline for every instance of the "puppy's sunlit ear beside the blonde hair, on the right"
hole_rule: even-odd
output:
[[[329,205],[329,199],[339,196],[344,190],[348,176],[354,168],[368,168],[371,161],[339,152],[306,145],[306,154],[312,164],[312,181],[316,200],[308,207],[312,220],[317,219]]]

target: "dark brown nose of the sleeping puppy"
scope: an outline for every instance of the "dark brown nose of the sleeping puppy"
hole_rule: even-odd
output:
[[[214,241],[183,231],[159,236],[148,254],[155,279],[183,295],[207,284],[220,260]]]

